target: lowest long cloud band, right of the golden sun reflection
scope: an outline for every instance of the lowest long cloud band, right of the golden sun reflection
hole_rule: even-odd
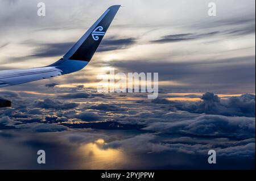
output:
[[[212,141],[197,140],[191,137],[168,138],[168,141],[160,141],[160,136],[154,134],[139,134],[135,137],[115,140],[106,143],[103,148],[123,149],[133,153],[184,153],[192,155],[207,155],[210,149],[216,150],[219,157],[250,157],[255,154],[255,140],[242,140],[232,142],[225,138],[217,138]],[[183,155],[184,156],[184,155]]]

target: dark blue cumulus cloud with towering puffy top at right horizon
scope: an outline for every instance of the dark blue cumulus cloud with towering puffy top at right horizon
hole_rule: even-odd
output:
[[[221,100],[217,95],[207,92],[201,99],[201,102],[179,104],[177,108],[193,113],[255,117],[255,95],[243,94]]]

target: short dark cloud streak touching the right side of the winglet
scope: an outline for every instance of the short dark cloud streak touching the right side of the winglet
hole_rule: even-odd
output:
[[[117,37],[110,37],[108,39],[103,39],[97,52],[107,52],[117,49],[130,48],[136,43],[134,38],[118,39]]]

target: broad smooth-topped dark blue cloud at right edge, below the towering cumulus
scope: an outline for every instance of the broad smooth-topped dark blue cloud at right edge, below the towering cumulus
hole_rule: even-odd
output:
[[[253,138],[255,137],[255,117],[203,115],[192,120],[152,123],[143,129],[168,134]]]

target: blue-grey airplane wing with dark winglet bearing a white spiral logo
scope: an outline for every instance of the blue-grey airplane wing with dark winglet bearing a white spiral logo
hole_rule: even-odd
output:
[[[120,5],[109,7],[63,58],[54,64],[41,68],[0,71],[0,87],[56,77],[84,68],[92,59],[119,7]]]

